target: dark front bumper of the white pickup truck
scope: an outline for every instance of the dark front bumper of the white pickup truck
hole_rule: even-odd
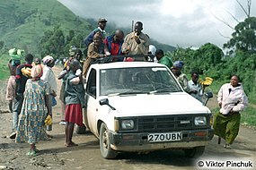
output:
[[[182,131],[179,141],[149,142],[148,132],[109,132],[111,149],[119,151],[151,151],[159,149],[190,149],[206,146],[214,136],[213,129]]]

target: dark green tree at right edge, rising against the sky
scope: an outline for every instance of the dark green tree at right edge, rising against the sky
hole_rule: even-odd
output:
[[[256,51],[256,18],[249,17],[238,23],[232,38],[224,44],[231,51],[241,50],[253,54]]]

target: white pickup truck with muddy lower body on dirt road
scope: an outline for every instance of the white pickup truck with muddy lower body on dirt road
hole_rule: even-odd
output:
[[[163,64],[92,64],[86,82],[84,124],[100,140],[102,157],[160,149],[199,157],[213,138],[210,110]]]

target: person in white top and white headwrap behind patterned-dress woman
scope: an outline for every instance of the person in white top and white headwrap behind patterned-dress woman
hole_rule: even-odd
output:
[[[50,109],[52,109],[52,106],[54,106],[54,101],[57,92],[57,81],[54,72],[52,71],[52,67],[55,65],[54,58],[50,55],[46,55],[42,59],[43,64],[45,65],[43,68],[43,74],[41,76],[41,80],[46,81],[49,83],[49,94],[51,95],[51,106]],[[56,100],[55,100],[56,101]],[[56,105],[56,103],[55,103]],[[47,126],[48,131],[52,131],[52,125]],[[50,135],[48,135],[50,137]]]

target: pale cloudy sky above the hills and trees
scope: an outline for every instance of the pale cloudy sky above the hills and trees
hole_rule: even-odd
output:
[[[234,18],[246,18],[236,0],[58,1],[85,19],[104,17],[117,29],[131,28],[132,21],[142,21],[144,33],[173,47],[200,47],[209,42],[222,48],[234,32],[222,21],[234,28],[238,23]],[[238,1],[247,10],[247,0]],[[251,16],[255,15],[256,0],[252,0]]]

